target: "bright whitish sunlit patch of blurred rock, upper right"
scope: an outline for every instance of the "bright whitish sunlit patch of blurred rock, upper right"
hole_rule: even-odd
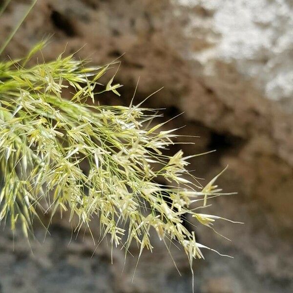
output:
[[[288,110],[292,112],[292,1],[174,2],[191,11],[191,21],[186,27],[189,36],[194,35],[194,29],[203,27],[202,21],[196,21],[199,14],[192,9],[202,9],[206,12],[204,17],[212,18],[209,30],[209,34],[214,33],[214,37],[209,38],[213,44],[211,52],[201,50],[191,54],[191,58],[232,63],[237,72],[254,82],[254,86],[269,99],[284,102],[288,99],[291,103]],[[213,68],[208,70],[211,74],[214,72]]]

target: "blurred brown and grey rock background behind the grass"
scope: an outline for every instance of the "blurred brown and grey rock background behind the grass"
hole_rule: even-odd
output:
[[[0,17],[0,42],[28,8],[12,0]],[[236,196],[216,199],[208,213],[245,225],[198,229],[200,242],[234,259],[206,253],[196,261],[197,293],[293,292],[293,1],[292,0],[38,0],[3,56],[18,58],[51,36],[44,60],[64,51],[105,64],[122,56],[116,81],[127,105],[140,77],[136,102],[164,86],[147,106],[166,108],[169,128],[198,135],[187,154],[217,149],[192,161],[211,179],[229,164],[219,184]],[[190,139],[189,139],[190,141]],[[171,149],[176,152],[177,147]],[[0,235],[0,292],[191,292],[188,261],[154,240],[131,284],[137,258],[89,235],[71,243],[71,228],[56,222],[31,248],[21,236]],[[137,256],[137,250],[132,253]]]

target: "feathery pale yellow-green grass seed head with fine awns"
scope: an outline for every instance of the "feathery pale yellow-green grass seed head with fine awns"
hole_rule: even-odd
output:
[[[179,243],[190,264],[202,258],[206,247],[182,217],[189,214],[208,227],[221,219],[190,208],[221,194],[217,176],[202,187],[187,169],[193,156],[164,153],[176,129],[160,130],[164,123],[155,123],[161,116],[156,110],[133,102],[97,105],[98,93],[119,95],[113,78],[97,90],[109,65],[95,68],[60,55],[27,67],[42,45],[24,60],[0,63],[0,220],[12,230],[20,221],[28,236],[41,214],[67,211],[69,221],[78,218],[77,230],[98,218],[102,236],[109,234],[112,245],[126,251],[133,241],[140,253],[152,250],[154,229],[165,243]],[[64,91],[71,99],[63,98]]]

